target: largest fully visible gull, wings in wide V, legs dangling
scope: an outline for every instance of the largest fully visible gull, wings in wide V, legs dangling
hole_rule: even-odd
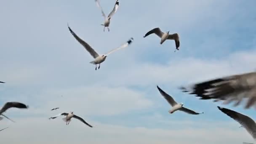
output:
[[[99,55],[96,51],[94,51],[94,49],[88,44],[86,43],[85,41],[83,41],[82,39],[80,39],[80,37],[78,37],[75,32],[72,31],[72,29],[70,29],[69,25],[68,25],[68,28],[69,28],[69,31],[71,32],[71,34],[75,37],[75,39],[81,44],[83,45],[83,47],[91,54],[91,56],[93,56],[94,58],[94,61],[91,61],[90,63],[91,64],[95,64],[96,67],[95,67],[95,70],[97,70],[97,64],[99,64],[99,67],[98,69],[100,68],[100,64],[106,60],[107,56],[114,52],[114,51],[117,51],[117,50],[120,50],[122,48],[126,48],[128,47],[132,42],[133,42],[133,37],[131,37],[126,43],[124,43],[123,45],[121,45],[120,47],[118,48],[115,48],[115,49],[112,49],[111,51],[109,51],[108,53],[106,54],[103,54],[103,55]]]

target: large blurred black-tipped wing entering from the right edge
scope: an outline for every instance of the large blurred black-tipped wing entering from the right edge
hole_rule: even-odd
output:
[[[179,89],[195,94],[200,99],[223,101],[223,104],[235,101],[234,107],[239,105],[243,99],[248,98],[244,108],[248,109],[253,105],[256,107],[256,72],[220,77],[192,86],[182,86]]]

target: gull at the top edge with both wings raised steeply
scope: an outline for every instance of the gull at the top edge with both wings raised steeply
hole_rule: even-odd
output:
[[[103,11],[103,9],[102,9],[100,3],[99,3],[99,0],[95,0],[95,2],[96,2],[96,4],[97,4],[97,6],[98,6],[99,8],[101,8],[102,16],[104,16],[105,21],[104,21],[104,24],[101,24],[101,25],[104,26],[103,32],[105,32],[105,27],[107,27],[107,29],[109,30],[110,19],[111,19],[111,17],[112,17],[112,16],[116,13],[116,11],[117,11],[117,8],[118,8],[118,6],[119,6],[119,0],[117,0],[117,1],[115,2],[115,6],[114,6],[113,10],[109,13],[109,16],[107,16],[107,17],[106,17],[106,15],[105,15],[105,13],[104,13],[104,11]]]

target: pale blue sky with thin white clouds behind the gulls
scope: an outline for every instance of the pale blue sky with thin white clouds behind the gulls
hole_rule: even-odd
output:
[[[100,0],[106,15],[115,0]],[[256,70],[255,0],[120,0],[110,32],[94,0],[5,0],[0,5],[0,105],[19,101],[1,120],[1,142],[11,144],[242,144],[254,142],[239,123],[217,109],[235,110],[254,120],[255,109],[199,100],[178,87]],[[125,43],[99,70],[70,34],[98,53]],[[179,33],[160,45],[160,27]],[[202,115],[169,114],[157,85],[184,107]],[[50,109],[60,107],[56,111]],[[89,128],[60,117],[73,111]]]

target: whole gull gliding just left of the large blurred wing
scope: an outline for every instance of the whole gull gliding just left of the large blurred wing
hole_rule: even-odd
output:
[[[191,115],[203,114],[203,112],[198,113],[198,112],[194,112],[190,109],[183,107],[182,103],[178,104],[170,95],[168,95],[161,88],[159,88],[158,85],[157,85],[157,89],[161,93],[161,95],[168,101],[168,103],[171,104],[172,109],[168,111],[169,113],[172,114],[173,112],[180,110],[180,111],[186,112]]]

